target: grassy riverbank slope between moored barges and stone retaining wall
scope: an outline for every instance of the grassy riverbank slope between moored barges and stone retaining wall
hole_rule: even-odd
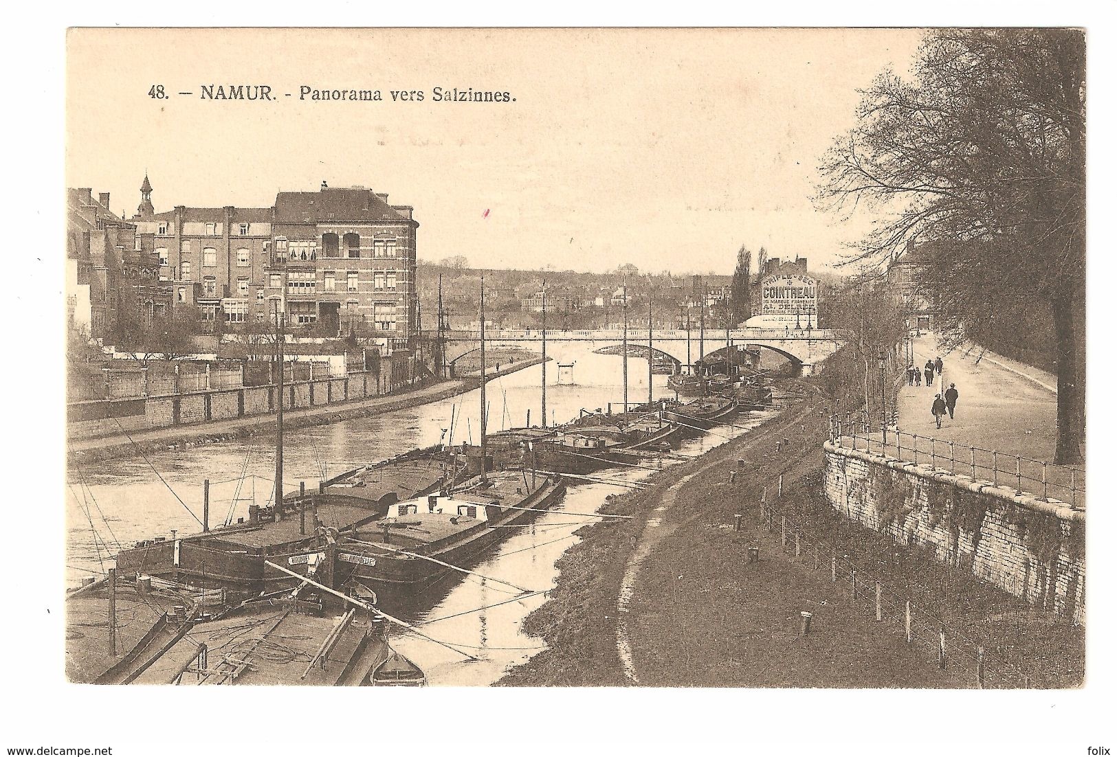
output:
[[[939,670],[933,651],[905,643],[901,624],[875,620],[865,593],[853,602],[846,583],[831,583],[829,556],[825,569],[817,569],[813,550],[796,557],[785,548],[779,519],[774,533],[762,523],[762,497],[795,518],[804,538],[830,550],[825,555],[837,549],[952,634],[983,644],[990,659],[1027,665],[1032,686],[1081,681],[1081,629],[830,508],[820,486],[829,404],[811,383],[794,386],[800,399],[779,416],[653,475],[655,488],[614,497],[603,508],[631,520],[579,531],[582,542],[557,563],[556,588],[524,624],[548,649],[499,684],[633,684],[618,653],[618,606],[626,572],[631,575],[633,555],[642,550],[647,559],[634,560],[621,626],[641,686],[977,686],[961,657]],[[737,459],[746,460],[745,481],[728,485]],[[744,516],[742,531],[733,529],[736,514]],[[760,548],[758,563],[747,562],[751,546]],[[813,613],[806,638],[799,634],[803,611]],[[949,654],[958,654],[955,646]]]

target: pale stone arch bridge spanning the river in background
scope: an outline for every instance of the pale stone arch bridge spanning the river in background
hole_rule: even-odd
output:
[[[424,334],[424,339],[433,339],[435,334]],[[621,329],[547,329],[547,352],[561,356],[564,347],[579,346],[591,352],[602,347],[623,344]],[[450,330],[446,335],[446,360],[452,364],[459,357],[479,349],[479,330]],[[633,347],[647,347],[648,329],[630,328],[628,341]],[[538,352],[542,348],[543,332],[529,329],[485,330],[486,346],[522,346]],[[818,328],[732,328],[709,329],[703,336],[696,329],[662,329],[651,332],[651,347],[671,358],[686,370],[691,370],[701,356],[709,356],[726,347],[760,347],[783,355],[801,373],[814,372],[815,365],[834,354],[846,343],[838,332]]]

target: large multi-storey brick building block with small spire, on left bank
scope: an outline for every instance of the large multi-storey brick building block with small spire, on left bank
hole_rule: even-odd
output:
[[[132,219],[140,248],[175,297],[197,295],[204,324],[237,329],[285,314],[296,334],[410,346],[418,327],[410,205],[363,186],[279,192],[270,208],[155,213],[146,178]],[[189,289],[189,291],[188,291]]]

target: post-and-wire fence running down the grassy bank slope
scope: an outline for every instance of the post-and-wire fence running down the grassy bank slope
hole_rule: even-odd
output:
[[[837,548],[802,527],[802,524],[761,502],[761,520],[770,533],[780,533],[780,546],[801,564],[828,572],[833,584],[841,585],[859,611],[879,623],[887,623],[903,634],[907,644],[930,657],[941,670],[953,670],[960,680],[982,689],[1046,688],[1042,680],[1029,674],[1022,662],[993,655],[983,643],[897,593],[870,572],[838,554]]]

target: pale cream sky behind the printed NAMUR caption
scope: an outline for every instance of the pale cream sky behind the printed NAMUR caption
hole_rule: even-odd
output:
[[[369,186],[414,207],[420,259],[476,267],[728,274],[745,245],[819,268],[859,236],[811,201],[821,156],[853,125],[858,88],[906,71],[922,37],[71,29],[66,181],[128,215],[145,172],[157,211]],[[160,84],[166,99],[149,95]],[[206,84],[265,84],[277,99],[202,100]],[[384,99],[300,100],[303,86]],[[435,87],[515,100],[435,102]]]

